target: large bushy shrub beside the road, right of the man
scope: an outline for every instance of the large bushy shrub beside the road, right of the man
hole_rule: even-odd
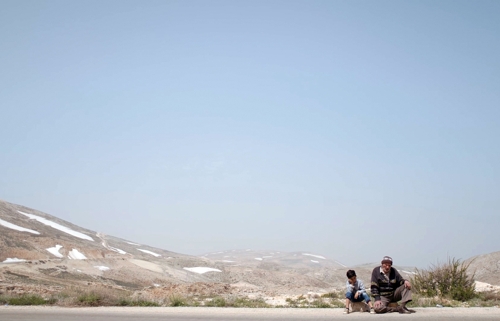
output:
[[[474,275],[468,275],[469,263],[448,258],[448,262],[431,266],[427,270],[417,269],[412,277],[416,293],[426,297],[449,298],[467,301],[476,297]]]

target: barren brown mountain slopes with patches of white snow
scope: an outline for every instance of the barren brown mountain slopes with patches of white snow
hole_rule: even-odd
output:
[[[500,252],[495,252],[478,257],[471,266],[479,271],[478,280],[499,284],[499,262]],[[366,283],[374,266],[353,268]],[[396,267],[407,276],[414,271]],[[152,296],[197,289],[276,297],[343,291],[348,268],[307,251],[235,249],[199,257],[184,255],[0,200],[0,293],[11,289],[50,294],[71,286],[102,286]]]

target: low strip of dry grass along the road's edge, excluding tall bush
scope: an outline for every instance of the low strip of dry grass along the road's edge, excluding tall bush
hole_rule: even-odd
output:
[[[272,308],[264,299],[249,299],[237,295],[193,296],[170,293],[164,296],[153,295],[150,292],[131,292],[109,288],[106,286],[68,287],[50,297],[41,297],[36,294],[3,294],[0,295],[0,304],[11,305],[57,305],[64,307],[74,306],[208,306],[208,307],[248,307]],[[491,307],[500,304],[500,293],[477,293],[473,299],[460,301],[439,295],[428,296],[415,293],[412,307]],[[301,295],[288,298],[286,304],[277,307],[290,308],[341,308],[344,307],[342,295],[336,292],[323,295]]]

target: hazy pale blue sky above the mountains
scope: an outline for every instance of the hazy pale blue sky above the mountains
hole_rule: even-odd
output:
[[[193,255],[499,251],[499,16],[0,0],[0,198]]]

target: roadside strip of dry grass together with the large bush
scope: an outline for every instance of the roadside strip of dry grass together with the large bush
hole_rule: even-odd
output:
[[[469,264],[449,259],[446,264],[433,266],[428,270],[417,270],[412,278],[414,288],[412,307],[491,307],[500,304],[500,293],[477,293],[474,275],[467,274]],[[161,293],[161,292],[159,292]],[[168,292],[167,292],[168,293]],[[286,299],[283,305],[271,305],[263,298],[247,298],[237,295],[223,295],[212,292],[208,295],[189,292],[171,292],[159,295],[158,292],[130,291],[109,286],[69,287],[49,298],[37,294],[4,293],[0,304],[8,305],[58,305],[58,306],[139,306],[139,307],[247,307],[247,308],[342,308],[342,291],[325,294],[304,294]]]

